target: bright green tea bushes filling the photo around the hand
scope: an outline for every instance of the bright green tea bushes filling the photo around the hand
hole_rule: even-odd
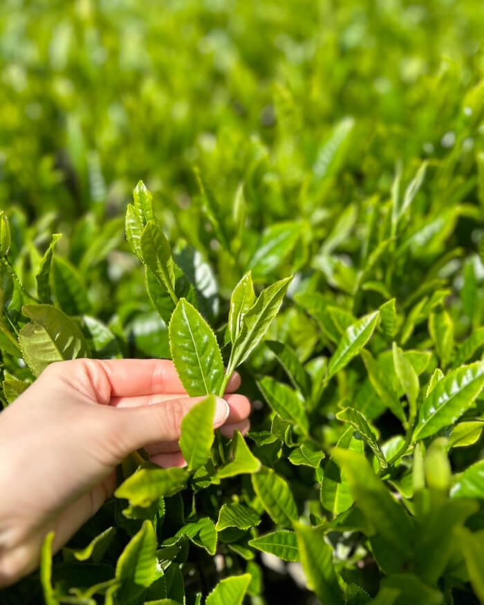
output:
[[[173,355],[254,410],[228,441],[207,397],[186,469],[133,454],[1,602],[484,602],[483,31],[479,0],[3,3],[4,406]]]

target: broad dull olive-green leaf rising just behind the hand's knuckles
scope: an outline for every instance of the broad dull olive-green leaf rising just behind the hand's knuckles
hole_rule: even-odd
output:
[[[90,357],[80,328],[60,309],[50,305],[24,305],[22,313],[32,319],[19,334],[26,364],[38,376],[52,363]]]

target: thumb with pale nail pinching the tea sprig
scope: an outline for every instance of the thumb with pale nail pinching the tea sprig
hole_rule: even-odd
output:
[[[116,433],[120,436],[120,452],[126,456],[140,447],[158,441],[176,441],[181,435],[184,416],[206,397],[184,397],[153,405],[115,408]],[[230,408],[224,399],[215,398],[214,428],[227,420]]]

